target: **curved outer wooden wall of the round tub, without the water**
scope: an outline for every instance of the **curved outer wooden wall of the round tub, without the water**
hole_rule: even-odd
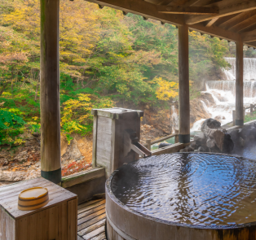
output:
[[[108,240],[253,240],[256,222],[240,225],[187,225],[144,215],[121,203],[113,194],[113,172],[106,181]]]

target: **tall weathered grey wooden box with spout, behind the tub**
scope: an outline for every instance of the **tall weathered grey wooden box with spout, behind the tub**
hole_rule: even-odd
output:
[[[120,107],[109,109],[93,109],[93,152],[94,167],[106,169],[106,177],[124,163],[139,159],[139,155],[130,152],[125,155],[124,134],[131,129],[140,137],[140,117],[143,111],[130,110]]]

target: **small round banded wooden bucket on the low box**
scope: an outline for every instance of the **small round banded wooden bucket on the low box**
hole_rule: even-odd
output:
[[[35,210],[45,206],[48,202],[48,190],[42,187],[33,187],[20,193],[18,208],[23,211]]]

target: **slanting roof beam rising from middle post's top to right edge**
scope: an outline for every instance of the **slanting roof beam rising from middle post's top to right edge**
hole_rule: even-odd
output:
[[[227,5],[225,3],[227,2]],[[204,22],[206,20],[212,20],[215,17],[223,17],[226,15],[233,15],[236,13],[244,12],[244,11],[251,11],[256,9],[256,2],[249,1],[249,2],[243,2],[242,0],[240,2],[234,1],[236,4],[230,3],[230,1],[222,1],[222,2],[216,2],[213,4],[208,5],[207,7],[219,7],[219,14],[218,15],[200,15],[200,16],[192,16],[189,17],[186,20],[186,24],[198,24],[201,22]]]

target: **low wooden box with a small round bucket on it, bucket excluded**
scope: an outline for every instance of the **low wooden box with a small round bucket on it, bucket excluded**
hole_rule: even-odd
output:
[[[18,209],[22,190],[46,187],[49,203],[33,211]],[[40,177],[0,188],[0,240],[77,239],[77,195]]]

